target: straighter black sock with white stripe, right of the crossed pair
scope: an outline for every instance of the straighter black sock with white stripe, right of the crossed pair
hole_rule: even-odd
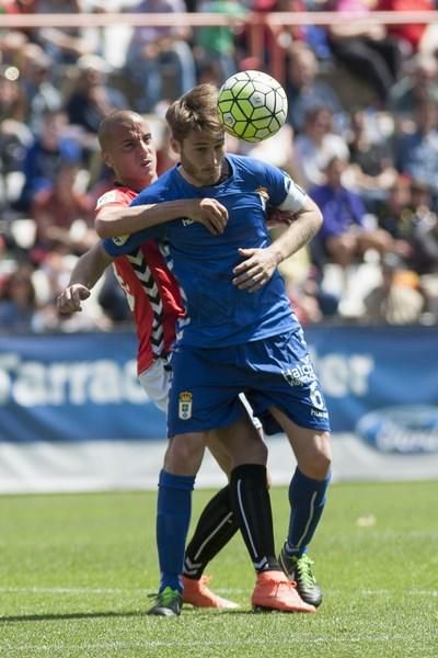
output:
[[[231,472],[231,501],[240,530],[257,574],[280,571],[275,557],[273,512],[266,467],[243,464]]]

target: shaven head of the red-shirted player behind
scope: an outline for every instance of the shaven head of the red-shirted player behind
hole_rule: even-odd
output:
[[[102,156],[117,181],[132,190],[140,191],[157,179],[155,147],[151,129],[143,120],[116,123]]]

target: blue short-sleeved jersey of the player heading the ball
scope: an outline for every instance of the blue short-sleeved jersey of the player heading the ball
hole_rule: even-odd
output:
[[[216,185],[197,188],[174,167],[140,192],[131,205],[181,198],[217,198],[229,213],[220,236],[189,217],[138,231],[129,238],[104,240],[111,256],[129,253],[145,240],[158,240],[176,276],[186,305],[180,320],[181,344],[215,348],[261,340],[293,330],[298,320],[286,295],[278,270],[257,292],[232,284],[233,268],[242,261],[239,248],[266,248],[270,237],[266,206],[278,207],[295,194],[295,183],[279,169],[242,156],[228,155],[230,177]],[[302,192],[297,188],[297,208]]]

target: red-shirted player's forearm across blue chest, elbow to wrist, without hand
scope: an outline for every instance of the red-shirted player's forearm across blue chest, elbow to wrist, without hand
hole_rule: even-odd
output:
[[[151,228],[178,217],[191,216],[193,201],[176,200],[132,207],[107,207],[96,216],[95,229],[101,238],[115,238]]]

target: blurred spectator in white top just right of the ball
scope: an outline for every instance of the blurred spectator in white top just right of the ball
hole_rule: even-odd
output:
[[[325,168],[333,158],[348,159],[345,140],[333,132],[333,115],[325,106],[306,113],[304,131],[293,144],[293,171],[306,189],[325,182]]]

